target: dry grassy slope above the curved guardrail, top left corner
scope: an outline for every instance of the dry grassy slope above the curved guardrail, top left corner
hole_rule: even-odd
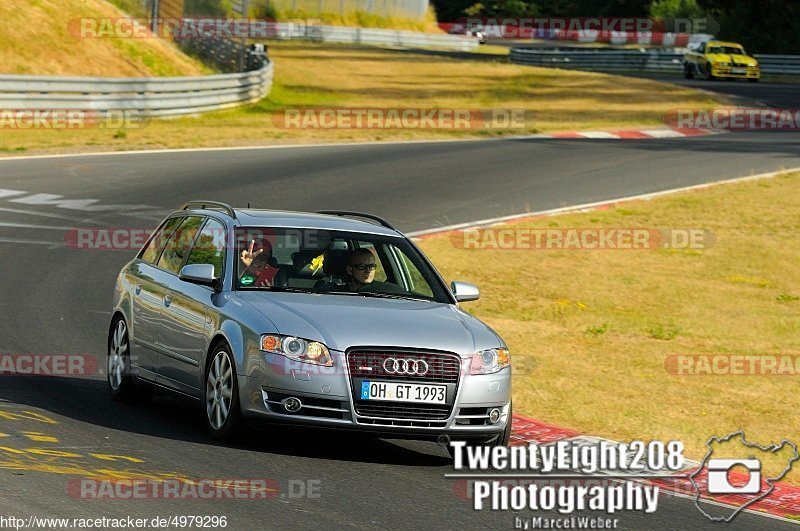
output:
[[[86,39],[70,21],[126,17],[102,0],[3,0],[0,2],[0,73],[144,77],[207,73],[163,39]]]

